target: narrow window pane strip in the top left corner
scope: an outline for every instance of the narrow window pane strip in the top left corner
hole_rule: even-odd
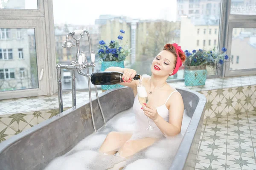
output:
[[[38,9],[37,0],[0,0],[0,9]]]

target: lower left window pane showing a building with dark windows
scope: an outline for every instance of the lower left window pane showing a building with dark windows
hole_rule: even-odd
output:
[[[2,84],[0,83],[0,91],[38,88],[34,28],[8,29],[13,35],[17,35],[17,31],[20,31],[22,39],[14,37],[0,41],[0,51],[2,51],[3,55],[3,59],[0,58],[2,81]],[[3,28],[0,28],[0,30],[2,31]],[[22,60],[20,60],[20,56],[23,58]],[[12,59],[12,62],[8,61],[9,59]],[[19,76],[20,68],[24,69],[22,79]],[[1,72],[2,69],[4,69],[4,73]]]

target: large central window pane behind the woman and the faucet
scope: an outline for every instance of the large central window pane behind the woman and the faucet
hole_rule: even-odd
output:
[[[218,34],[213,34],[213,31],[219,29],[219,4],[221,0],[207,1],[207,3],[198,0],[177,0],[177,5],[173,5],[169,0],[152,1],[147,2],[147,8],[144,8],[143,12],[141,12],[141,6],[144,4],[138,0],[125,3],[125,8],[120,9],[111,5],[119,4],[120,1],[118,0],[113,0],[111,3],[101,1],[96,13],[93,8],[84,11],[83,6],[99,6],[98,1],[73,0],[73,3],[68,3],[67,0],[54,0],[52,2],[56,61],[63,65],[75,61],[76,46],[63,48],[62,45],[66,40],[66,34],[76,29],[86,29],[90,33],[92,50],[96,53],[96,71],[101,70],[98,55],[99,41],[104,40],[107,45],[111,40],[119,42],[117,39],[119,35],[123,36],[122,43],[128,42],[128,48],[132,48],[132,54],[125,58],[125,68],[133,68],[138,74],[148,75],[151,75],[152,60],[166,43],[177,43],[183,51],[192,51],[199,48],[213,48],[213,40],[218,41]],[[79,6],[76,5],[77,3],[79,3]],[[214,4],[216,4],[215,8]],[[203,5],[204,11],[210,11],[209,14],[202,14],[203,8],[201,7]],[[67,11],[59,8],[60,6],[76,8],[73,15],[77,17],[70,17]],[[156,9],[157,12],[152,12]],[[215,13],[213,12],[214,9]],[[90,18],[84,20],[80,11],[84,11],[83,15],[88,15]],[[184,15],[187,17],[184,17]],[[81,20],[83,20],[82,24]],[[211,29],[210,36],[208,36],[209,28]],[[120,29],[124,30],[125,34],[121,34]],[[198,38],[195,39],[195,37]],[[75,42],[72,37],[70,38]],[[212,40],[210,45],[209,40]],[[80,49],[89,58],[87,36],[84,36],[81,40]],[[169,79],[181,79],[183,73],[184,70],[180,69],[176,75],[170,76]],[[209,72],[209,75],[212,74],[215,75],[215,72]],[[87,83],[85,83],[87,78],[78,74],[76,74],[76,77],[78,79],[76,87],[87,88]],[[71,88],[70,80],[62,85],[63,89]]]

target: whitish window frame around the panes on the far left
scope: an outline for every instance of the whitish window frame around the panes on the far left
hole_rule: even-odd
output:
[[[52,16],[52,0],[38,0],[38,10],[0,9],[0,28],[34,28],[39,86],[32,89],[3,91],[0,92],[0,99],[57,93],[54,23]],[[42,72],[42,77],[39,79]]]

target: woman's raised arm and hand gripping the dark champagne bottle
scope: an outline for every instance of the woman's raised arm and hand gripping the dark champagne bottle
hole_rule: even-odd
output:
[[[131,79],[133,79],[135,77],[135,75],[137,74],[137,72],[135,70],[130,69],[130,68],[109,67],[105,71],[117,71],[117,72],[123,73],[122,79],[124,80],[124,82],[119,83],[119,84],[123,85],[123,86],[128,86],[133,89],[136,88],[137,80],[131,81]]]

